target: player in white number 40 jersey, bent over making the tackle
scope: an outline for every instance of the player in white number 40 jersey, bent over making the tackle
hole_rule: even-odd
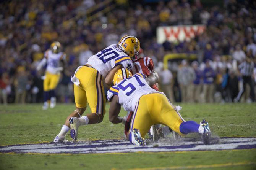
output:
[[[112,86],[113,76],[117,70],[131,70],[132,60],[138,56],[139,48],[139,40],[127,35],[122,37],[118,44],[112,44],[97,52],[85,65],[76,69],[75,75],[71,77],[74,83],[76,110],[68,116],[53,142],[66,142],[65,135],[69,130],[71,138],[77,140],[79,126],[102,122],[106,102],[103,81]],[[91,113],[81,116],[86,110],[87,103]]]

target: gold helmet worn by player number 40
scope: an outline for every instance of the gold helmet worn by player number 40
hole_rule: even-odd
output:
[[[123,36],[118,43],[118,47],[132,59],[137,59],[140,46],[138,38],[132,35]]]

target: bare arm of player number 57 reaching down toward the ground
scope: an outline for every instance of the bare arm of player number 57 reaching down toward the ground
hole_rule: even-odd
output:
[[[122,122],[122,118],[118,116],[121,110],[121,105],[118,103],[118,96],[114,95],[109,108],[109,121],[113,124],[118,124]]]

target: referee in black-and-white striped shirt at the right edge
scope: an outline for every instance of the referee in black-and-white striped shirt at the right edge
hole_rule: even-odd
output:
[[[241,99],[241,96],[245,92],[246,84],[249,84],[250,86],[250,97],[252,102],[255,102],[255,93],[254,93],[254,82],[253,82],[253,69],[254,69],[254,63],[251,60],[250,57],[246,57],[246,59],[238,66],[240,73],[243,77],[243,87],[239,91],[237,97],[234,99],[235,102],[239,102]]]

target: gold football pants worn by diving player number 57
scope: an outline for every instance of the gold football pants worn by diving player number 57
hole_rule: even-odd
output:
[[[144,137],[153,124],[164,124],[173,131],[180,132],[180,124],[185,122],[169,103],[167,97],[160,93],[152,93],[141,96],[130,125],[130,132],[134,128],[139,129],[141,137]]]

